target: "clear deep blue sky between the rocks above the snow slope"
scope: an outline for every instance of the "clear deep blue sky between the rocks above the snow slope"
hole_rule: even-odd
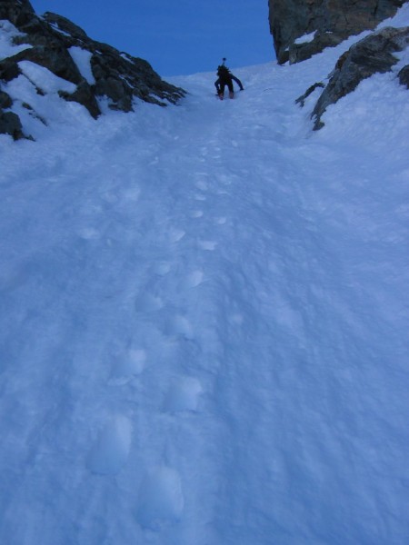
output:
[[[273,61],[268,0],[31,0],[87,35],[144,58],[161,75],[211,72],[223,56],[234,67]]]

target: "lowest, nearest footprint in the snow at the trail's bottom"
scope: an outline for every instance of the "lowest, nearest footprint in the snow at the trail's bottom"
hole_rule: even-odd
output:
[[[159,466],[146,472],[136,505],[136,520],[143,528],[164,530],[182,518],[184,508],[182,482],[177,471]]]

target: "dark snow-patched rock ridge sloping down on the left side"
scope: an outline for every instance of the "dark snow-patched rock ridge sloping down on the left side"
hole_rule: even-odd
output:
[[[101,114],[98,99],[104,96],[111,109],[129,112],[134,108],[135,98],[166,105],[166,102],[176,104],[185,95],[183,89],[164,82],[146,61],[95,42],[65,17],[51,13],[38,17],[28,0],[1,0],[0,19],[10,21],[22,33],[15,36],[15,45],[31,45],[0,61],[0,92],[3,96],[2,81],[10,82],[22,74],[18,64],[21,61],[44,66],[75,84],[74,93],[60,91],[60,96],[83,104],[94,118]],[[91,77],[81,74],[71,48],[88,55]],[[44,94],[42,89],[36,89],[36,92]],[[0,102],[0,133],[12,134],[10,131],[13,130],[13,134],[20,137],[23,134],[21,124],[18,130],[10,128],[12,117],[9,114],[12,113],[4,111],[9,108],[12,104],[3,98]],[[13,119],[15,117],[13,114]],[[3,119],[7,119],[7,123],[1,121]]]

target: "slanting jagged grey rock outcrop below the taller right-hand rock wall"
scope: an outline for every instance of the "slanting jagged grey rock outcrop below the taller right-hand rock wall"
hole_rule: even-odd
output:
[[[315,104],[312,114],[314,129],[324,126],[321,116],[330,104],[336,103],[345,94],[354,91],[365,78],[376,73],[389,72],[392,66],[398,62],[394,53],[403,51],[408,45],[408,26],[404,28],[387,27],[367,36],[345,52],[338,59],[328,84]],[[406,77],[409,75],[407,68],[406,66],[399,74],[403,84],[405,84],[404,74]],[[298,102],[301,103],[302,98],[300,97]]]

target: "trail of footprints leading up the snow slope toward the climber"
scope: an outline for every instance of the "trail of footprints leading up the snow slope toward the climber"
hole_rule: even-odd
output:
[[[203,183],[197,183],[200,190],[205,189]],[[199,198],[200,197],[200,198]],[[203,194],[195,194],[195,201],[204,201]],[[191,218],[202,218],[201,210],[193,210]],[[224,218],[215,219],[215,223],[224,223]],[[171,230],[170,243],[179,243],[185,236],[183,230]],[[213,251],[217,243],[213,241],[198,241],[198,248],[204,251]],[[170,272],[169,263],[158,263],[155,273],[165,276]],[[187,277],[187,285],[197,287],[205,281],[204,272],[195,270]],[[150,293],[141,294],[135,304],[140,312],[155,312],[163,308],[160,297]],[[173,318],[172,326],[165,328],[165,333],[180,336],[182,339],[192,339],[193,331],[190,322],[183,315]],[[110,379],[111,385],[122,386],[141,375],[145,370],[145,350],[129,350],[126,358],[115,365],[115,372]],[[180,377],[174,381],[167,393],[163,409],[165,412],[177,413],[181,411],[197,411],[200,395],[203,391],[200,381],[192,377]],[[88,453],[87,469],[95,475],[113,476],[118,474],[128,459],[133,435],[133,424],[130,418],[117,414],[105,423],[99,431],[95,443]],[[164,465],[149,468],[145,471],[136,501],[136,520],[142,528],[161,530],[169,524],[181,520],[185,507],[184,493],[180,474],[175,469]]]

